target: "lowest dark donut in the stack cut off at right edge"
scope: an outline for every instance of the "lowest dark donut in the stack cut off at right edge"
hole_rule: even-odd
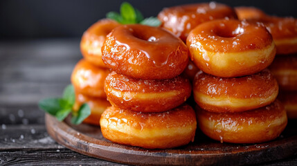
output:
[[[280,91],[278,100],[285,105],[289,119],[297,119],[297,91]]]

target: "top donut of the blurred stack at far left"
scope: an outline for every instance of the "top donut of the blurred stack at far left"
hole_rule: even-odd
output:
[[[96,66],[105,67],[105,64],[102,62],[101,47],[106,35],[117,26],[120,26],[120,24],[114,20],[101,19],[88,28],[82,35],[80,42],[80,51],[84,59]]]

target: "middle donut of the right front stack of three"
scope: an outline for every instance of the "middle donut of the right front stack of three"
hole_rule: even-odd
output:
[[[193,82],[195,102],[202,109],[235,113],[273,102],[278,83],[267,69],[244,77],[222,78],[199,72]]]

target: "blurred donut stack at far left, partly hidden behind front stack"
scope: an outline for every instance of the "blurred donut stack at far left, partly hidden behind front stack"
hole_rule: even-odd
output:
[[[89,104],[91,115],[85,123],[99,125],[103,111],[110,106],[104,91],[105,78],[110,73],[102,62],[101,47],[106,35],[119,24],[102,19],[93,24],[82,36],[80,49],[84,59],[73,69],[71,82],[75,89],[74,111],[84,103]]]

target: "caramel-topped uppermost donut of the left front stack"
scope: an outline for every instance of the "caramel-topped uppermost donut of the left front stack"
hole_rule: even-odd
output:
[[[162,28],[125,25],[114,28],[107,36],[102,60],[108,68],[129,77],[170,79],[188,65],[188,48]]]

